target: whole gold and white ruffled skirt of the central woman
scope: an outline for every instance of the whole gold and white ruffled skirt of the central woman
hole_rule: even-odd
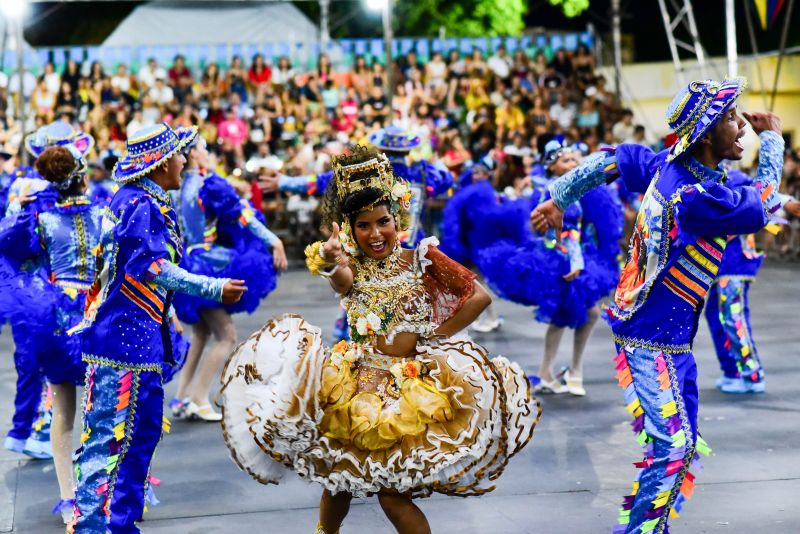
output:
[[[355,496],[491,491],[541,415],[525,374],[466,338],[417,351],[352,362],[346,347],[325,350],[302,317],[270,320],[222,373],[234,461],[264,484],[289,468]]]

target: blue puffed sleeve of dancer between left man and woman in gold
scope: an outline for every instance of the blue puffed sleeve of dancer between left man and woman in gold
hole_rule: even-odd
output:
[[[258,220],[255,212],[242,202],[236,190],[224,178],[216,175],[206,178],[199,195],[207,216],[216,217],[223,223],[236,222],[267,246],[278,241],[278,236]]]

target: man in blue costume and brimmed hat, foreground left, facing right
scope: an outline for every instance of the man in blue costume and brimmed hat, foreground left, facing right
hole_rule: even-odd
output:
[[[178,267],[183,243],[167,191],[178,189],[181,150],[197,135],[166,124],[128,139],[114,168],[123,184],[103,216],[98,274],[86,299],[83,451],[76,466],[78,532],[138,532],[150,461],[161,438],[162,363],[171,354],[169,310],[180,291],[236,302],[240,280]]]

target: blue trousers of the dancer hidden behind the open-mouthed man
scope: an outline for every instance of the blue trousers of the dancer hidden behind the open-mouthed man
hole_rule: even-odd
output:
[[[749,291],[747,280],[720,278],[708,292],[705,314],[725,376],[759,382],[764,379],[764,369],[750,326]]]

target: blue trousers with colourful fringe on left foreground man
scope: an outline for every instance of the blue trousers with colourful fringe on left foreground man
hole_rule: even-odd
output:
[[[159,372],[88,363],[75,531],[139,532],[163,401]]]

